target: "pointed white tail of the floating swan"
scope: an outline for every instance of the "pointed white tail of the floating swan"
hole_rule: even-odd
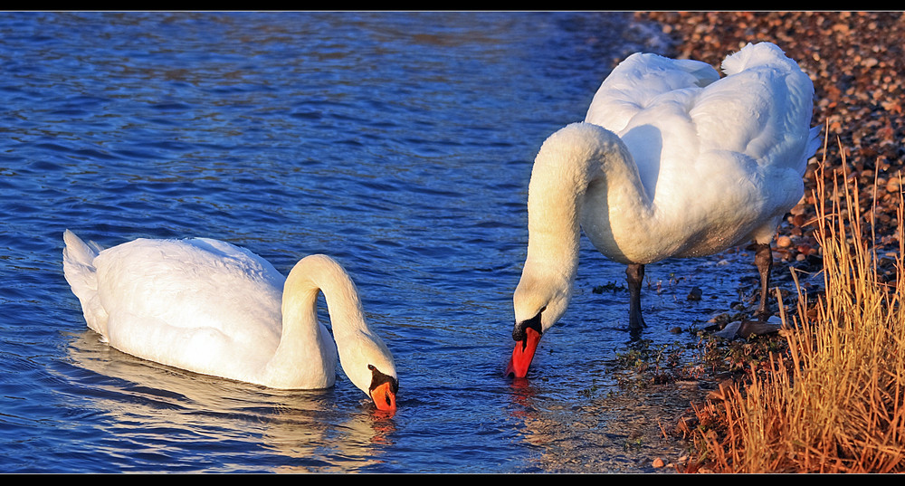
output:
[[[100,245],[85,243],[81,238],[66,230],[62,234],[66,247],[62,250],[62,272],[72,288],[72,293],[81,301],[81,310],[88,327],[102,335],[107,332],[107,311],[100,305],[97,272],[94,259],[100,253]]]

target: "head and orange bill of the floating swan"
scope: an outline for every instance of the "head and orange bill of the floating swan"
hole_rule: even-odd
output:
[[[360,331],[353,344],[338,348],[339,360],[349,381],[370,396],[378,409],[395,411],[399,378],[393,355],[384,341],[375,334]]]

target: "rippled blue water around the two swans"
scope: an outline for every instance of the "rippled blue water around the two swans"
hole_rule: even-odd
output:
[[[658,395],[609,372],[624,268],[583,243],[529,380],[501,376],[531,162],[627,14],[0,14],[0,472],[649,472]],[[206,236],[288,272],[328,253],[395,354],[399,411],[340,375],[284,392],[99,342],[62,232]],[[726,310],[748,255],[648,267],[645,338]],[[691,286],[705,299],[689,302]],[[653,432],[652,432],[653,431]]]

